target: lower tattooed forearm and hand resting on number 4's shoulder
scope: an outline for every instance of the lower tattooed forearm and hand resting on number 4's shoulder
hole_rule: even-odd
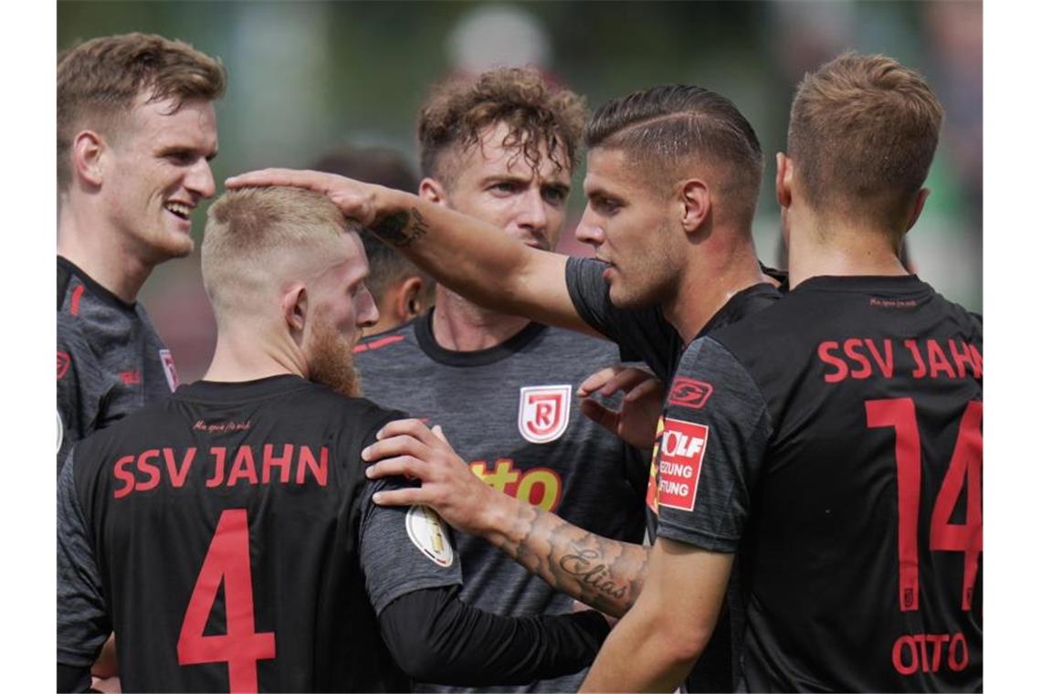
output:
[[[496,491],[416,419],[392,421],[377,438],[362,452],[363,460],[379,461],[365,474],[406,474],[423,485],[379,492],[373,502],[429,506],[452,526],[483,537],[554,589],[606,614],[620,617],[636,600],[650,547],[593,535]]]

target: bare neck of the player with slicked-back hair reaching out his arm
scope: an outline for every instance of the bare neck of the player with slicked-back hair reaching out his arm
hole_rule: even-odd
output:
[[[751,241],[726,249],[700,248],[689,256],[674,299],[662,304],[665,319],[689,343],[734,294],[766,282]]]

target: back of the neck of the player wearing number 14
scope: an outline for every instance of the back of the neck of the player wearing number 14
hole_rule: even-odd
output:
[[[908,275],[886,229],[807,214],[790,217],[788,284],[811,277]]]

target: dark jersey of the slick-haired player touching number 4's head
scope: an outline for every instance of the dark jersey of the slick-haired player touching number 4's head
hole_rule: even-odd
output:
[[[762,267],[762,264],[760,264]],[[619,309],[611,303],[604,281],[604,263],[591,258],[568,258],[565,277],[572,303],[582,319],[618,344],[628,359],[642,359],[662,383],[674,387],[672,377],[683,353],[683,339],[662,314],[660,306]],[[709,318],[695,337],[754,315],[775,304],[781,293],[771,284],[754,284],[728,301]],[[649,503],[648,535],[654,542],[658,515]],[[735,562],[727,589],[727,605],[715,631],[684,683],[687,692],[730,692],[740,684],[740,660],[744,633],[743,603],[738,591],[740,561]]]

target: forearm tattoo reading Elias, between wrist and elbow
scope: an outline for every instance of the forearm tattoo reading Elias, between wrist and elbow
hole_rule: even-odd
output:
[[[636,601],[651,557],[650,547],[593,535],[534,506],[496,544],[554,589],[615,617]]]

